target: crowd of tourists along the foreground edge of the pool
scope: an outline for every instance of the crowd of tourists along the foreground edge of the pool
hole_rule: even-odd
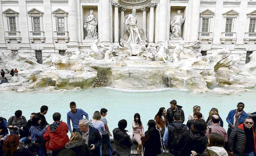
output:
[[[132,139],[138,143],[137,154],[143,152],[145,156],[256,156],[256,112],[245,113],[242,102],[227,115],[227,131],[217,108],[212,108],[206,119],[200,106],[195,105],[184,124],[182,106],[172,100],[170,108],[161,107],[155,118],[148,120],[146,131],[136,113],[131,133],[126,130],[125,119],[113,130],[115,150],[111,147],[107,109],[95,111],[90,120],[88,113],[76,108],[75,102],[70,103],[70,109],[67,123],[62,122],[60,113],[54,113],[54,122],[49,124],[46,105],[39,113],[31,113],[29,120],[21,110],[8,120],[0,117],[0,156],[46,156],[47,151],[52,151],[53,156],[129,156]]]

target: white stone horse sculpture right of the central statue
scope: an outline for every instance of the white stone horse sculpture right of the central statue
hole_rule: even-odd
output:
[[[155,61],[164,61],[166,62],[166,60],[170,60],[170,52],[168,49],[168,45],[170,45],[169,41],[162,41],[159,50],[157,52],[154,53],[155,55]]]

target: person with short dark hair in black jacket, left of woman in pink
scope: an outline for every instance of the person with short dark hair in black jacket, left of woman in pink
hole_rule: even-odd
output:
[[[113,130],[116,153],[119,156],[129,156],[131,154],[132,136],[125,130],[127,121],[122,119],[118,122],[118,128]]]

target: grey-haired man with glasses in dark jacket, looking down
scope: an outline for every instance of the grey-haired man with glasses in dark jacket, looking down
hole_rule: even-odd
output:
[[[100,156],[100,146],[102,144],[102,137],[99,130],[91,127],[87,119],[79,120],[79,126],[76,130],[82,138],[86,139],[85,144],[87,144],[91,150],[93,156]]]

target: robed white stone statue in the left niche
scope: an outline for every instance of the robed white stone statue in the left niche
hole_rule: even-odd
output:
[[[89,38],[97,38],[98,33],[97,33],[97,20],[96,17],[93,15],[93,10],[90,10],[90,15],[87,16],[87,19],[85,21],[84,28],[87,30],[87,36]]]

